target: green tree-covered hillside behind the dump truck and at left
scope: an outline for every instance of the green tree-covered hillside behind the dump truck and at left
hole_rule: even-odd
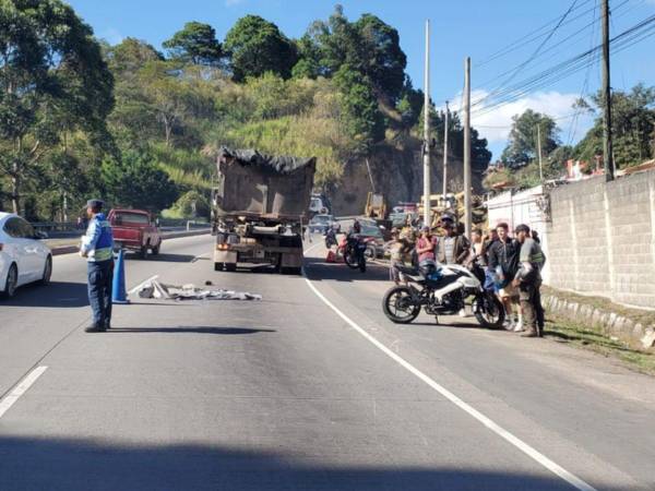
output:
[[[317,185],[379,145],[419,141],[422,94],[396,29],[341,7],[299,39],[257,15],[190,22],[162,49],[111,46],[60,0],[0,5],[0,208],[74,220],[84,201],[206,213],[219,145],[317,156]],[[219,40],[219,34],[224,39]],[[440,144],[443,113],[430,107]],[[451,115],[453,155],[463,131]],[[491,154],[474,131],[474,165]]]

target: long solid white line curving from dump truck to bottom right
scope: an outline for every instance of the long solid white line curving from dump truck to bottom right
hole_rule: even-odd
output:
[[[342,318],[350,327],[353,327],[355,331],[357,331],[359,334],[361,334],[367,340],[372,343],[377,348],[379,348],[382,352],[384,352],[384,355],[386,355],[388,357],[390,357],[391,359],[396,361],[401,367],[403,367],[404,369],[412,372],[414,375],[416,375],[418,379],[424,381],[426,384],[428,384],[430,387],[432,387],[434,391],[437,391],[443,397],[449,399],[451,403],[453,403],[460,409],[462,409],[463,411],[473,416],[475,419],[477,419],[479,422],[481,422],[489,430],[491,430],[492,432],[495,432],[502,439],[507,440],[509,443],[514,445],[521,452],[523,452],[527,456],[532,457],[534,460],[539,463],[541,466],[546,467],[548,470],[550,470],[555,475],[562,478],[564,481],[569,482],[574,488],[579,489],[580,491],[596,491],[595,488],[593,488],[591,484],[583,481],[577,476],[574,476],[573,474],[569,472],[567,469],[564,469],[563,467],[561,467],[558,464],[556,464],[555,462],[552,462],[550,458],[546,457],[544,454],[539,453],[538,451],[536,451],[535,448],[529,446],[523,440],[519,439],[517,436],[514,436],[512,433],[510,433],[508,430],[502,428],[500,424],[496,423],[495,421],[489,419],[487,416],[483,415],[480,411],[478,411],[473,406],[471,406],[469,404],[462,400],[460,397],[457,397],[455,394],[450,392],[448,388],[438,384],[434,380],[430,379],[428,375],[426,375],[424,372],[418,370],[416,367],[414,367],[407,360],[405,360],[404,358],[402,358],[401,356],[396,355],[394,351],[389,349],[386,346],[384,346],[382,343],[380,343],[378,339],[376,339],[373,336],[371,336],[369,333],[367,333],[364,328],[361,328],[359,325],[357,325],[353,320],[350,320],[350,318],[348,318],[346,314],[344,314],[330,300],[327,300],[325,298],[325,296],[323,296],[323,294],[321,294],[308,278],[305,278],[305,280],[307,282],[307,285],[309,285],[309,288],[317,295],[317,297],[319,297],[323,301],[323,303],[325,303],[327,307],[330,307],[330,309],[332,309],[340,318]]]

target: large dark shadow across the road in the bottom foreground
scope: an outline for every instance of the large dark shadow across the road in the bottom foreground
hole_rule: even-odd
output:
[[[90,415],[93,417],[93,415]],[[287,444],[288,445],[288,444]],[[569,491],[546,470],[519,474],[476,468],[324,465],[321,451],[245,450],[202,444],[119,444],[103,440],[0,438],[3,491],[302,490],[302,491]],[[344,459],[346,456],[344,456]],[[604,488],[610,490],[610,488]],[[618,491],[611,490],[611,491]],[[622,487],[622,491],[629,491]]]

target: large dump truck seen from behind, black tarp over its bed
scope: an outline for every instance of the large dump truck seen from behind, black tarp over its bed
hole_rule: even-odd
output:
[[[315,158],[221,148],[212,200],[214,270],[250,263],[300,273],[315,164]]]

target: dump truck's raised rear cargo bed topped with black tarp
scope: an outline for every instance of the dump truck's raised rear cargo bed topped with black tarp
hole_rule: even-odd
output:
[[[215,195],[218,216],[307,218],[315,164],[315,158],[221,148]]]

